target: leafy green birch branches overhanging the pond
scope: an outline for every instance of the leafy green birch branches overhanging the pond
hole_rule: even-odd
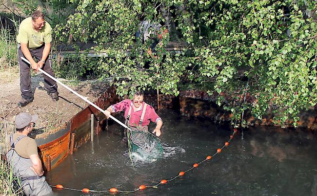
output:
[[[243,110],[262,119],[273,109],[276,123],[296,126],[298,112],[317,102],[316,9],[314,0],[82,0],[57,36],[98,44],[107,53],[103,77],[114,77],[120,95],[157,88],[178,95],[188,85],[218,94],[233,120]],[[151,58],[149,43],[134,44],[143,20],[170,25],[188,47],[167,52],[167,35]]]

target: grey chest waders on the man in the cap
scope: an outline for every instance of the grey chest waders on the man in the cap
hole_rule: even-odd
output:
[[[46,196],[52,194],[52,188],[45,181],[45,177],[36,175],[30,169],[32,167],[31,159],[20,156],[15,150],[17,143],[24,137],[26,135],[21,135],[14,142],[13,134],[10,135],[11,149],[7,152],[7,159],[13,170],[13,174],[21,180],[21,189],[26,196]]]

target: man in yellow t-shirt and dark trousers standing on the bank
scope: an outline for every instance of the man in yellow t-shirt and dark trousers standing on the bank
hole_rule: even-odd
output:
[[[17,42],[22,99],[18,103],[18,107],[24,107],[34,100],[34,92],[32,92],[31,87],[31,68],[35,70],[41,68],[51,76],[55,76],[51,61],[48,59],[52,42],[51,31],[51,25],[44,20],[44,15],[40,11],[35,11],[32,17],[24,19],[20,24]],[[21,57],[26,58],[31,63],[31,67]],[[37,62],[34,61],[34,58]],[[43,76],[47,93],[53,101],[58,101],[59,93],[56,82],[44,74]]]

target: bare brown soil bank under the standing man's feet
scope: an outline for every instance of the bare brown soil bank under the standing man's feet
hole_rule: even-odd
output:
[[[108,88],[104,81],[75,83],[74,81],[59,80],[91,102],[94,102]],[[40,133],[52,133],[59,130],[59,127],[65,125],[75,114],[89,105],[61,85],[58,87],[59,101],[54,102],[46,92],[44,79],[40,73],[32,76],[34,101],[25,107],[17,107],[17,103],[21,99],[19,73],[15,79],[9,81],[1,79],[0,89],[2,89],[0,93],[0,141],[3,141],[6,134],[14,131],[15,117],[21,112],[39,116],[33,134],[34,137],[45,137],[45,134]]]

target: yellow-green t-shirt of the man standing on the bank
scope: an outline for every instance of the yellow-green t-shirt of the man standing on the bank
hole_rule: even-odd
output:
[[[39,32],[32,28],[32,17],[24,19],[20,23],[17,42],[19,44],[28,44],[29,49],[40,47],[44,43],[52,42],[51,25],[45,21],[45,25]]]

